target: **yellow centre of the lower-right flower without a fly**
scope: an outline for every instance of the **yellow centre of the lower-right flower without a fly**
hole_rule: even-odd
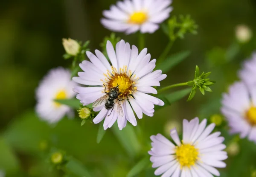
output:
[[[182,144],[176,149],[176,157],[181,168],[193,166],[198,160],[198,149],[190,144]]]

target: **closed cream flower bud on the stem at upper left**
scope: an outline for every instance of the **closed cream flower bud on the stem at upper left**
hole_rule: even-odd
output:
[[[79,43],[74,39],[62,39],[62,44],[64,46],[65,51],[67,54],[76,56],[80,51],[80,45]]]

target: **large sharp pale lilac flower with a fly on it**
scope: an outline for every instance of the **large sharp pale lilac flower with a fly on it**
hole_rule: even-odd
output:
[[[164,105],[163,101],[147,93],[157,94],[157,90],[151,86],[160,86],[159,81],[165,79],[166,74],[162,74],[161,70],[152,72],[156,59],[150,61],[151,55],[147,54],[147,48],[139,53],[136,46],[133,45],[131,48],[129,43],[121,40],[116,44],[116,51],[110,41],[107,42],[106,49],[111,64],[98,50],[95,51],[96,55],[86,52],[90,62],[83,61],[79,65],[84,72],[79,72],[79,77],[74,77],[73,80],[79,84],[95,87],[75,87],[73,90],[79,93],[76,98],[84,105],[94,102],[93,110],[100,112],[93,122],[98,124],[105,118],[104,129],[110,128],[116,120],[119,129],[125,127],[127,121],[136,126],[134,112],[141,119],[143,113],[153,116],[154,104]],[[115,90],[116,86],[118,86],[118,98],[113,100],[115,102],[113,108],[107,109],[106,93]],[[104,97],[102,102],[96,101]]]

